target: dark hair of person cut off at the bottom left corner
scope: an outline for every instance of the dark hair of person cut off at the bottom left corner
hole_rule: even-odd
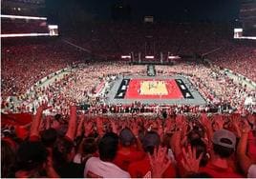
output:
[[[1,141],[1,178],[8,178],[14,166],[15,153],[8,142]]]

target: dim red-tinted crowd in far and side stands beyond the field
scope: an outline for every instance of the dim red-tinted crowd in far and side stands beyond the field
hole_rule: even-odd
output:
[[[209,24],[167,23],[131,26],[126,23],[110,23],[88,25],[86,30],[81,29],[77,33],[73,32],[72,35],[68,33],[64,35],[65,39],[90,50],[93,55],[106,56],[103,59],[119,59],[120,55],[129,54],[131,51],[134,51],[137,58],[141,52],[141,58],[143,58],[147,41],[155,42],[155,45],[147,42],[146,46],[149,49],[148,53],[154,53],[158,57],[157,60],[160,59],[160,52],[165,60],[168,52],[174,55],[194,55],[221,48],[206,58],[217,66],[234,70],[255,81],[256,72],[253,68],[255,66],[255,43],[234,42],[231,40],[230,31],[232,30],[228,27]],[[20,94],[32,87],[40,78],[80,60],[81,57],[88,56],[63,42],[30,45],[16,39],[15,46],[11,47],[6,46],[5,41],[7,40],[4,40],[1,50],[3,96]],[[28,65],[33,68],[29,68]]]

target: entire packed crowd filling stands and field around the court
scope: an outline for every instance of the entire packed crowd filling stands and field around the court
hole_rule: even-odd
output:
[[[156,48],[162,52],[192,53],[192,42],[198,42],[203,53],[226,43],[226,34],[218,28],[208,33],[211,26],[205,26],[203,38],[197,27],[141,26],[114,24],[107,26],[108,33],[102,26],[89,30],[94,35],[85,35],[87,40],[72,38],[72,42],[114,56],[135,47],[142,51],[141,36],[155,38],[156,33],[161,39]],[[193,41],[182,44],[187,37]],[[15,44],[1,51],[2,107],[10,109],[3,99],[14,95],[22,103],[13,111],[35,115],[25,126],[1,127],[1,177],[256,177],[256,116],[247,112],[255,111],[255,105],[245,107],[247,97],[255,102],[256,91],[232,81],[219,68],[198,62],[156,66],[158,75],[187,77],[191,88],[207,101],[205,106],[158,109],[139,102],[108,106],[104,93],[94,95],[97,85],[110,84],[118,76],[146,75],[145,67],[123,61],[83,62],[88,54],[59,40]],[[233,42],[227,44],[228,53],[213,54],[214,64],[255,81],[255,50],[243,44],[236,50]],[[25,94],[41,78],[77,61],[80,65],[63,78]],[[234,65],[242,61],[244,66]],[[78,109],[83,103],[90,105],[88,113]],[[223,111],[223,106],[231,114],[207,114],[211,107]]]

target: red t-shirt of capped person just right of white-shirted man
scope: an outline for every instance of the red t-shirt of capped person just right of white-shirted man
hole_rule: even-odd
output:
[[[120,169],[127,171],[131,163],[141,160],[144,155],[145,153],[143,151],[133,148],[130,148],[130,151],[128,152],[119,149],[113,163],[116,164]]]

